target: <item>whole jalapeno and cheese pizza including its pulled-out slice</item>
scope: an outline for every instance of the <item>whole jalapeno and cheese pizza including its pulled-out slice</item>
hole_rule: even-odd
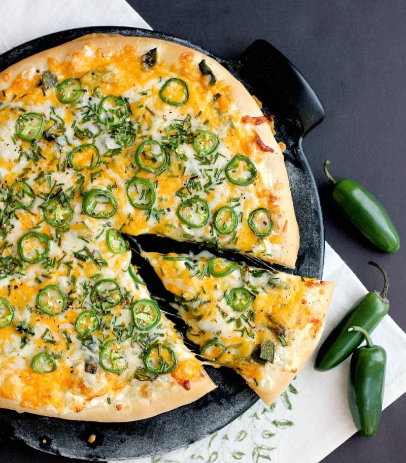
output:
[[[93,34],[2,72],[0,407],[147,418],[215,387],[203,361],[273,402],[315,348],[333,285],[219,253],[294,268],[281,148],[238,80],[175,43]],[[199,355],[123,234],[216,253],[143,254]]]

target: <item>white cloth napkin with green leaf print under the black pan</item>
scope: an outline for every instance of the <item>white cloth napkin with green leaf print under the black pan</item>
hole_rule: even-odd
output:
[[[63,5],[63,7],[62,7]],[[58,30],[89,25],[150,26],[124,0],[14,0],[0,4],[0,53]],[[26,19],[29,18],[27,23]],[[259,38],[259,37],[258,37]],[[367,290],[326,244],[325,280],[336,288],[325,335]],[[384,408],[406,391],[406,334],[387,315],[374,332],[388,354]],[[317,373],[311,358],[275,406],[261,401],[218,433],[167,455],[132,463],[317,463],[356,432],[347,405],[349,360]]]

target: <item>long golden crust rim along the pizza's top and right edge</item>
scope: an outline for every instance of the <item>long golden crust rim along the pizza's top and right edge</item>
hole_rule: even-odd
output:
[[[83,47],[88,46],[93,49],[122,49],[125,45],[132,45],[137,49],[137,52],[142,55],[150,50],[152,47],[159,47],[159,55],[163,57],[168,65],[168,68],[174,67],[179,69],[180,61],[179,57],[182,53],[190,53],[191,49],[184,47],[179,44],[167,42],[159,39],[150,39],[146,37],[123,37],[119,35],[109,34],[90,34],[72,42],[60,45],[55,48],[43,51],[36,55],[32,55],[16,64],[13,64],[10,68],[0,73],[0,90],[8,87],[20,73],[32,72],[39,70],[40,72],[45,71],[48,68],[47,61],[48,57],[53,57],[58,61],[64,61],[67,56],[72,55],[75,51],[82,50]],[[193,63],[197,64],[201,59],[206,59],[209,67],[218,77],[218,80],[224,80],[227,85],[231,88],[230,96],[236,106],[244,114],[249,116],[262,116],[262,111],[259,108],[257,102],[248,93],[244,85],[235,79],[221,64],[219,64],[213,58],[206,56],[199,51],[193,50]],[[172,68],[171,68],[172,69]],[[7,81],[5,81],[7,76]],[[272,134],[272,131],[268,124],[261,124],[255,126],[255,130],[263,143],[274,150],[274,152],[264,152],[266,156],[269,171],[272,171],[275,184],[278,184],[281,194],[281,204],[284,209],[285,222],[285,233],[283,233],[281,243],[281,255],[276,257],[276,261],[286,267],[294,268],[297,251],[299,248],[299,229],[296,222],[296,217],[293,209],[292,196],[289,188],[289,180],[284,164],[282,151]]]

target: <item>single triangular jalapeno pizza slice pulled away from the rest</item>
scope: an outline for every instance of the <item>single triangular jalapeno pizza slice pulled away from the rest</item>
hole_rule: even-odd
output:
[[[143,252],[175,295],[202,358],[234,369],[269,405],[314,351],[333,283],[218,258]]]

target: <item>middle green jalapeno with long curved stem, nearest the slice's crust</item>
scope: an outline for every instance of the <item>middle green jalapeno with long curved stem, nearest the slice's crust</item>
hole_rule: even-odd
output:
[[[348,332],[350,326],[361,326],[371,333],[388,313],[389,301],[388,277],[384,269],[377,263],[369,261],[369,265],[377,267],[384,277],[384,288],[381,293],[371,291],[352,309],[340,323],[332,330],[320,347],[314,368],[318,371],[327,371],[339,365],[362,342],[362,335],[357,332]]]

